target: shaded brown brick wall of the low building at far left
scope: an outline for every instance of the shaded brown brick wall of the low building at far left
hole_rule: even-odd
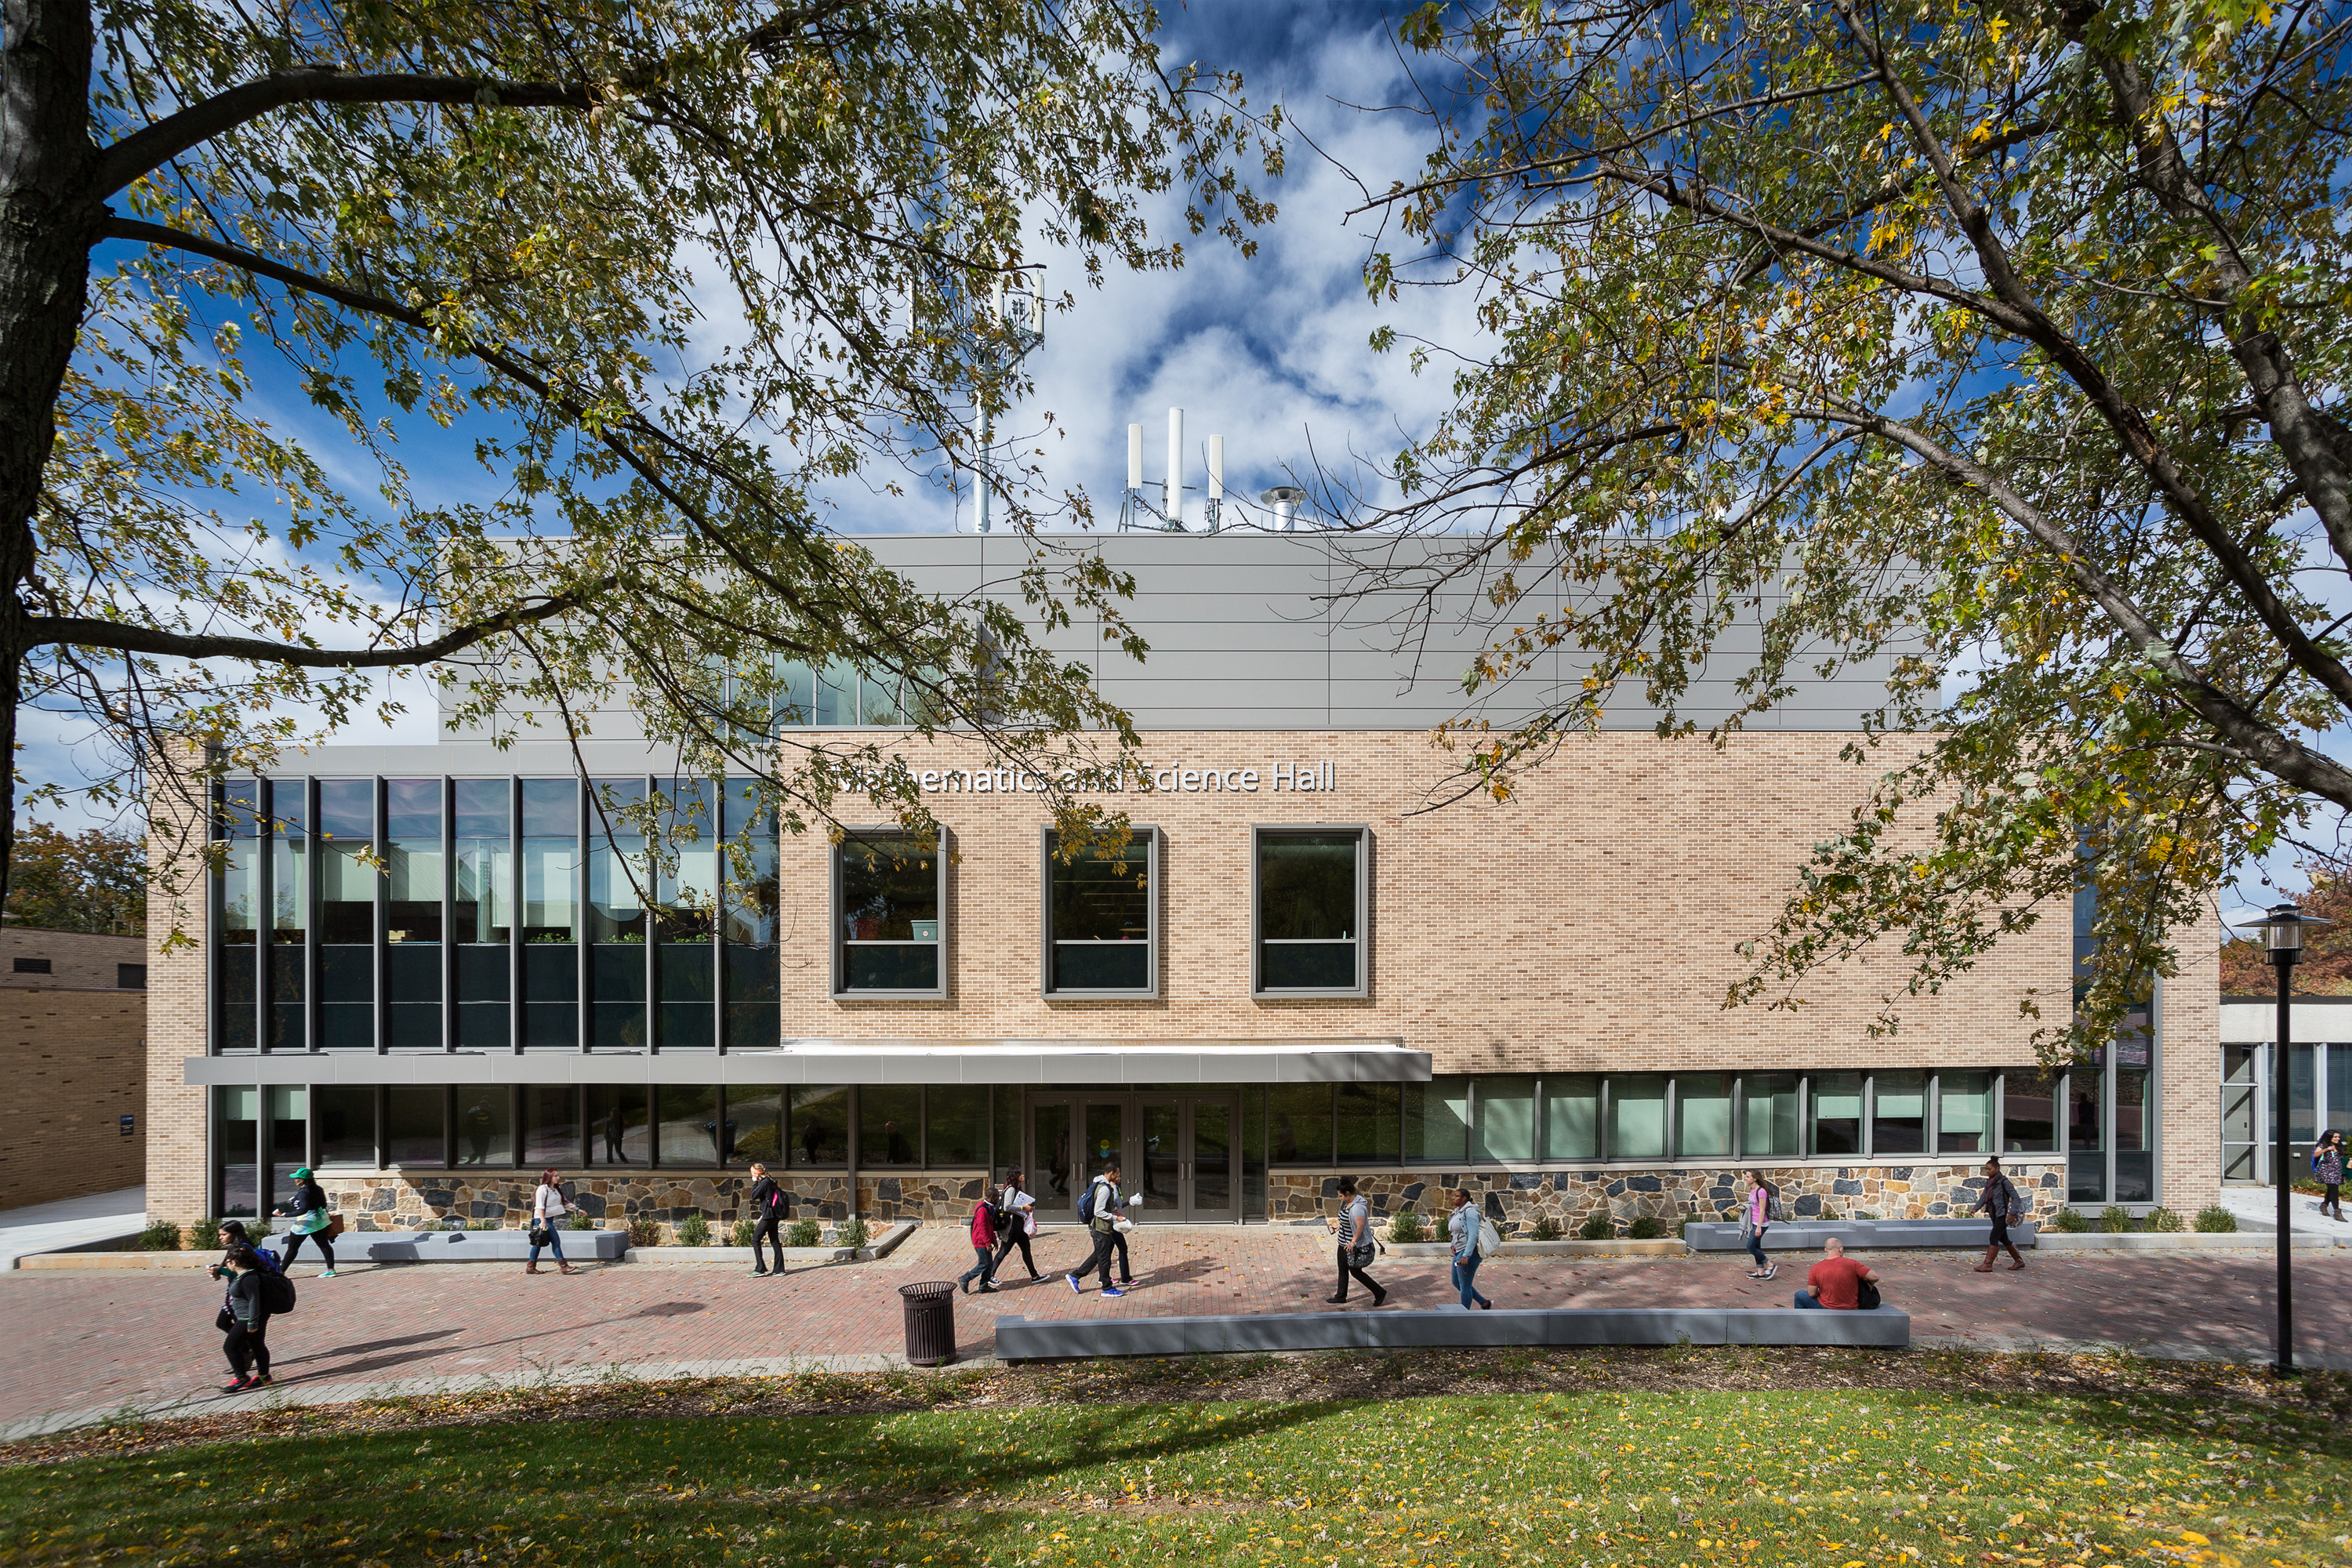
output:
[[[146,997],[0,985],[0,1208],[146,1180]]]

